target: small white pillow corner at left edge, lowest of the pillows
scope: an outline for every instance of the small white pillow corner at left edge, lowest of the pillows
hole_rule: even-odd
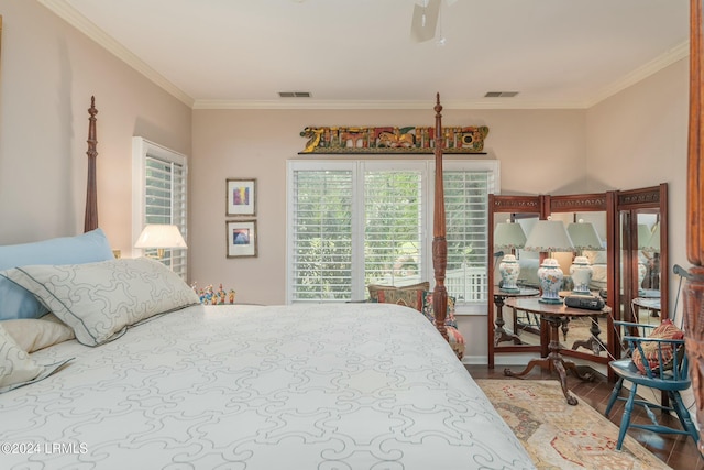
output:
[[[0,324],[0,393],[45,379],[69,360],[51,365],[36,363]]]

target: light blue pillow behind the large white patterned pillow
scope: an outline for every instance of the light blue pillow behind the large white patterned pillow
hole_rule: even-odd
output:
[[[101,229],[76,237],[0,247],[0,271],[31,264],[82,264],[112,260]],[[40,318],[48,313],[29,291],[0,276],[0,320]]]

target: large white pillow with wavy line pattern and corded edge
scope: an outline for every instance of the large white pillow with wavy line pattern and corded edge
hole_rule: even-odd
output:
[[[200,303],[178,275],[146,258],[21,266],[0,275],[34,294],[86,346],[116,339],[151,316]]]

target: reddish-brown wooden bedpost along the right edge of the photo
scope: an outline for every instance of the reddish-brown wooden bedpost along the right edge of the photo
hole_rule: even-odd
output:
[[[696,401],[700,452],[704,453],[704,106],[702,103],[702,0],[690,0],[690,129],[686,255],[693,264],[684,288],[684,328],[692,391]]]

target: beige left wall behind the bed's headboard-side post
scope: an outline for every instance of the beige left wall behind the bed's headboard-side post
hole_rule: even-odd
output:
[[[129,250],[131,139],[190,154],[190,108],[35,1],[0,0],[0,243],[82,231],[95,95],[100,226]]]

